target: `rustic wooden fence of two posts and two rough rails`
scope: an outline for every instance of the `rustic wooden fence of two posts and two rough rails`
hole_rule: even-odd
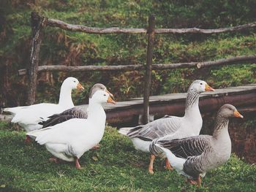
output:
[[[119,65],[119,66],[38,66],[39,50],[42,42],[42,29],[45,26],[62,28],[68,31],[79,31],[89,34],[145,34],[148,36],[146,65]],[[230,28],[217,29],[202,29],[202,28],[155,28],[155,17],[148,17],[148,28],[92,28],[88,26],[72,25],[64,23],[61,20],[49,19],[38,15],[36,12],[31,12],[31,56],[30,63],[27,69],[20,69],[19,74],[27,74],[29,79],[28,100],[27,104],[34,104],[35,93],[37,89],[37,73],[38,72],[81,72],[81,71],[129,71],[145,69],[144,91],[143,91],[143,122],[148,123],[149,117],[149,96],[151,90],[151,71],[163,69],[178,69],[192,67],[218,66],[227,64],[253,64],[256,63],[256,55],[242,55],[237,57],[223,58],[217,61],[192,62],[180,64],[153,64],[153,48],[155,34],[217,34],[223,32],[242,31],[248,28],[255,28],[256,22],[248,23],[241,26]]]

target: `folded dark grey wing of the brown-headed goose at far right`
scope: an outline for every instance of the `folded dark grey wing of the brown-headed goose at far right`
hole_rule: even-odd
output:
[[[184,139],[158,140],[157,143],[169,149],[174,155],[180,158],[201,155],[211,144],[211,136],[199,135]]]

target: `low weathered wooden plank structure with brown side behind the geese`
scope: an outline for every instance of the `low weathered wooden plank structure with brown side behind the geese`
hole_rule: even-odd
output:
[[[184,115],[187,93],[170,93],[162,96],[150,96],[151,118],[161,118],[164,115]],[[199,107],[202,115],[213,114],[223,104],[233,104],[243,115],[255,114],[256,84],[238,87],[220,88],[214,92],[200,94]],[[76,106],[86,110],[87,104]],[[105,104],[107,122],[111,126],[136,126],[143,114],[143,98],[119,101],[115,105]],[[0,115],[0,120],[11,120],[11,115]],[[140,122],[141,123],[141,122]]]

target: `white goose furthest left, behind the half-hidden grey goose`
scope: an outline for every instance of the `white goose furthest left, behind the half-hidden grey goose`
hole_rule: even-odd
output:
[[[41,117],[47,118],[50,115],[74,107],[71,92],[75,88],[84,89],[75,77],[67,77],[61,85],[59,104],[40,103],[30,106],[5,108],[4,112],[14,115],[12,123],[18,123],[26,132],[42,128],[42,125],[38,124]],[[25,141],[29,142],[29,137],[26,137]]]

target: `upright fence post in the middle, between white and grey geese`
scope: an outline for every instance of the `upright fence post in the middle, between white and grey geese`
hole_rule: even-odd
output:
[[[143,93],[143,123],[146,124],[149,121],[149,96],[151,91],[151,70],[152,70],[152,58],[154,47],[154,28],[155,17],[150,15],[148,17],[148,47],[147,47],[147,61],[144,80],[144,93]]]

